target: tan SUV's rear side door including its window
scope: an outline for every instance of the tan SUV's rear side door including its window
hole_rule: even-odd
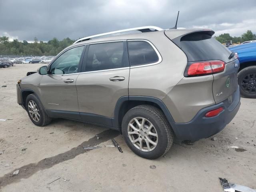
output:
[[[86,57],[87,56],[87,57]],[[76,80],[82,120],[112,126],[117,100],[128,96],[126,41],[90,44]]]

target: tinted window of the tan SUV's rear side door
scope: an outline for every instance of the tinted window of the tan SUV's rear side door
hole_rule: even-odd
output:
[[[98,71],[125,67],[124,43],[112,42],[89,46],[85,71]]]

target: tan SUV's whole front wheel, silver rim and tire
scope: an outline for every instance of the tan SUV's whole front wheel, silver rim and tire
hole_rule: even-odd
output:
[[[35,94],[30,94],[26,98],[26,110],[30,120],[37,126],[45,126],[52,120],[44,111],[42,103]]]

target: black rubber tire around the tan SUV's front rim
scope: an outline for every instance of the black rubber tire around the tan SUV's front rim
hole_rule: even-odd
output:
[[[30,107],[28,106],[30,104],[30,102],[34,102],[34,104],[36,104],[36,107],[34,106],[34,108],[37,108],[39,110],[39,120],[35,120],[35,115],[31,114],[30,111]],[[26,110],[28,112],[28,116],[30,118],[30,120],[37,126],[45,126],[47,124],[49,124],[52,121],[52,118],[50,118],[45,110],[44,107],[42,105],[42,103],[40,102],[40,100],[36,97],[35,94],[30,94],[28,95],[28,97],[26,98]],[[37,110],[37,112],[38,112]],[[38,117],[38,116],[37,116]]]

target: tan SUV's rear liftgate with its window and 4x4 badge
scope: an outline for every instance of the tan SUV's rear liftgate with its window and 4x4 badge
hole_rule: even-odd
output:
[[[239,61],[236,56],[229,58],[232,52],[212,38],[212,34],[212,31],[193,32],[174,39],[174,42],[186,53],[188,62],[216,62],[217,67],[224,64],[223,72],[212,74],[212,93],[217,104],[232,96],[238,89]]]

